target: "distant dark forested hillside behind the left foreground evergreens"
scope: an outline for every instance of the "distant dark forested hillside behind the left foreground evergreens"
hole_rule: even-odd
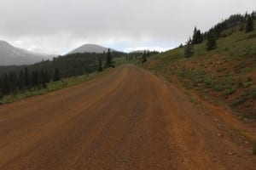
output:
[[[114,59],[125,56],[126,54],[120,52],[112,52],[111,55]],[[19,73],[20,70],[27,68],[29,71],[46,69],[49,71],[50,76],[53,76],[55,69],[60,71],[61,77],[79,76],[97,71],[100,58],[102,58],[102,65],[104,66],[107,54],[67,54],[65,56],[56,57],[53,60],[43,60],[34,65],[0,66],[0,75],[9,72]]]

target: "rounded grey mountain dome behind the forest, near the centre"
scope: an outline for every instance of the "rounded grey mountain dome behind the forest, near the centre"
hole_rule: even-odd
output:
[[[111,49],[111,51],[115,51],[114,49]],[[80,46],[79,48],[73,49],[68,54],[76,54],[76,53],[96,53],[96,54],[102,54],[104,52],[108,52],[108,48],[102,47],[100,45],[96,44],[84,44]]]

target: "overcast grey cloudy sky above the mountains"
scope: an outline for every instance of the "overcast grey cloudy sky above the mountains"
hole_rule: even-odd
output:
[[[185,42],[194,26],[207,31],[255,9],[255,0],[0,0],[0,39],[48,54],[84,43],[166,50]]]

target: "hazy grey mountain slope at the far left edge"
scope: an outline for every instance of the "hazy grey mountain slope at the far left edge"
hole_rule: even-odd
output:
[[[42,59],[51,59],[53,55],[37,54],[26,49],[16,48],[0,41],[0,65],[31,65]]]

